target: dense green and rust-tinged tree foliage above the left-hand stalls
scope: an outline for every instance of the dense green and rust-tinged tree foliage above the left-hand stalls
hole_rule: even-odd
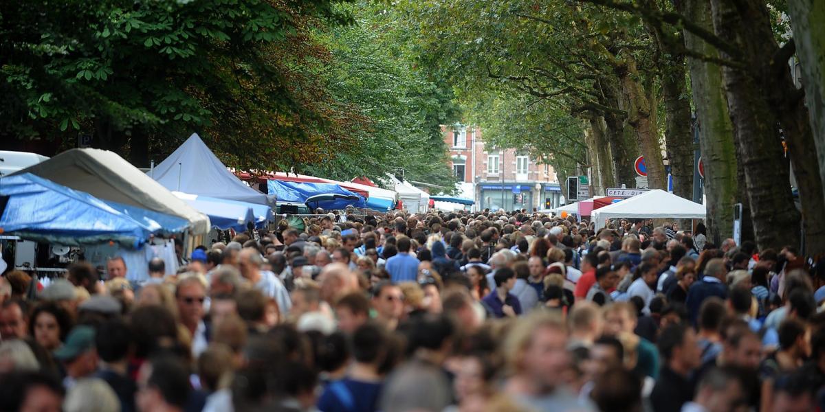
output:
[[[2,4],[2,147],[54,155],[86,135],[145,167],[197,132],[241,169],[347,180],[404,169],[451,187],[438,127],[457,116],[451,91],[413,69],[403,38],[375,31],[380,7]]]

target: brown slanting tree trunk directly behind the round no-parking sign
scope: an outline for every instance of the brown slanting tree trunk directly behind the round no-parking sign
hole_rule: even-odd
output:
[[[625,54],[624,65],[618,68],[622,86],[622,96],[627,105],[627,121],[636,132],[639,146],[642,148],[645,166],[648,168],[648,187],[650,189],[667,189],[665,166],[662,163],[662,147],[659,144],[656,124],[653,122],[648,95],[639,83],[639,72],[632,56]]]

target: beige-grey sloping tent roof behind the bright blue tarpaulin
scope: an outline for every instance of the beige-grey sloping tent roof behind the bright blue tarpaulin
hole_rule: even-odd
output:
[[[177,199],[163,185],[146,176],[115,152],[100,149],[71,149],[51,159],[26,167],[12,176],[31,173],[73,190],[101,199],[145,208],[186,219],[196,234],[209,232],[205,214]]]

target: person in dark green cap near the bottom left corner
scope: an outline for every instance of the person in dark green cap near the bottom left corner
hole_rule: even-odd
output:
[[[66,343],[54,351],[54,358],[63,363],[66,371],[63,386],[67,390],[83,377],[91,376],[97,370],[95,330],[92,326],[75,326],[68,333]]]

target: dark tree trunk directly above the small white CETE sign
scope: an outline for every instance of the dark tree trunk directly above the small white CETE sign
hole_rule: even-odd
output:
[[[619,108],[619,90],[616,85],[608,82],[600,82],[602,100],[600,103],[609,107]],[[625,134],[625,121],[614,112],[604,112],[608,142],[610,143],[610,154],[613,157],[613,170],[615,172],[616,187],[626,185],[636,187],[636,172],[633,170],[633,163],[639,157],[639,143],[632,133]]]

